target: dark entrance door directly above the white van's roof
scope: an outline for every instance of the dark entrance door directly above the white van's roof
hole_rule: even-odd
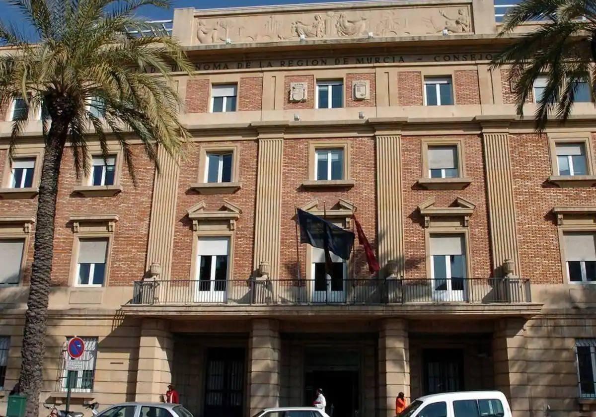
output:
[[[424,395],[464,389],[464,352],[461,349],[424,349]]]

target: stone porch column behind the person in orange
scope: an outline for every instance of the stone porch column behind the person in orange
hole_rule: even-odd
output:
[[[386,319],[378,335],[378,416],[395,417],[395,399],[402,391],[409,399],[408,323]]]

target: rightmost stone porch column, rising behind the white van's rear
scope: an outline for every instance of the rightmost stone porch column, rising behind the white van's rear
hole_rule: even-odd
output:
[[[525,320],[502,319],[495,323],[493,333],[495,388],[507,396],[514,417],[530,413],[524,323]]]

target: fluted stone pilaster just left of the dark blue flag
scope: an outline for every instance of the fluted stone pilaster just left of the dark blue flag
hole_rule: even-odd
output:
[[[281,136],[259,138],[253,267],[270,262],[272,279],[279,272],[283,153]]]

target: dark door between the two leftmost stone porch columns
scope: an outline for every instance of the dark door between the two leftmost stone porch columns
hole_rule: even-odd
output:
[[[205,417],[242,417],[244,349],[209,348],[205,382]]]

